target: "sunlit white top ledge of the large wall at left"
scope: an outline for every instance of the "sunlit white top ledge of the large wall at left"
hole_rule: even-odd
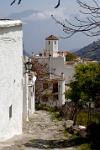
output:
[[[20,20],[10,20],[10,19],[0,19],[0,27],[11,27],[16,25],[21,25],[22,22]]]

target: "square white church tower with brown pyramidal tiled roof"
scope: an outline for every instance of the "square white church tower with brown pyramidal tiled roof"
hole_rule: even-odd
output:
[[[58,55],[58,37],[54,35],[50,35],[45,39],[45,56],[53,56],[56,57]]]

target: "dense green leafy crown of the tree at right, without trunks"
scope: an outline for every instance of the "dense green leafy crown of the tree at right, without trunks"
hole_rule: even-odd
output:
[[[100,64],[89,63],[76,66],[75,80],[84,93],[85,100],[95,100],[96,95],[100,94]],[[82,97],[84,100],[84,96]]]

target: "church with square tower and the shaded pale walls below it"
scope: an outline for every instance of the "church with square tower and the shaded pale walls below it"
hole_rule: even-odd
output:
[[[43,50],[42,56],[38,59],[43,62],[47,60],[49,64],[49,72],[55,73],[56,75],[61,75],[64,73],[66,84],[73,78],[75,62],[66,62],[65,55],[67,52],[60,51],[58,37],[50,35],[45,39],[45,49]]]

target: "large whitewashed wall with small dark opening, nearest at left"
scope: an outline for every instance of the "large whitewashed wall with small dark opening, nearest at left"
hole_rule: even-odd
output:
[[[21,21],[0,21],[0,141],[22,133]]]

